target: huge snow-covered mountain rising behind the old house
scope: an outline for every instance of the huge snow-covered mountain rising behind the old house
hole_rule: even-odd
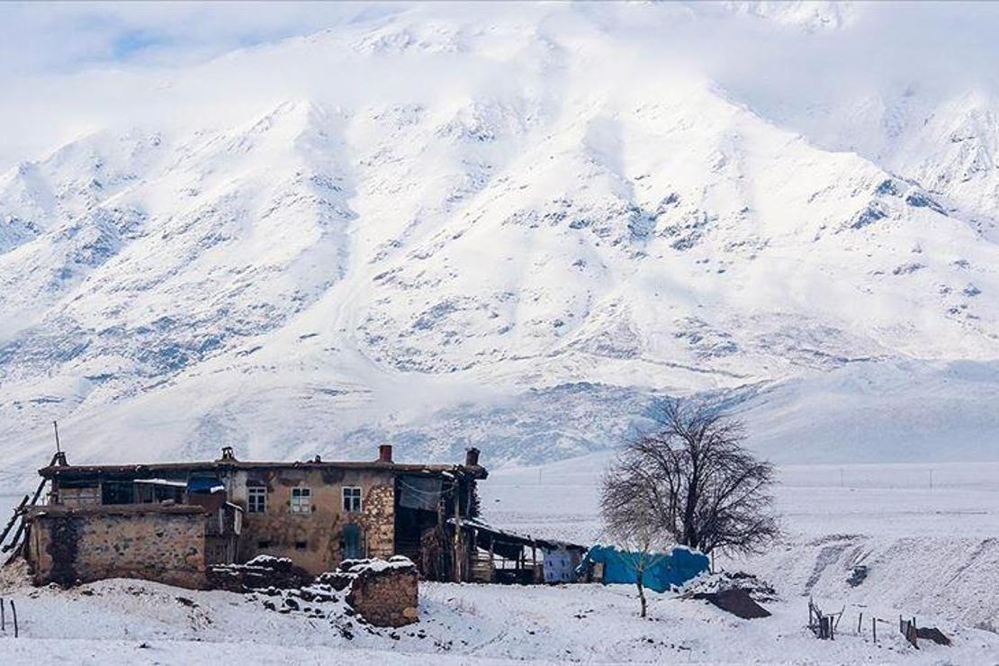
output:
[[[778,459],[995,457],[992,98],[656,50],[859,11],[407,7],[151,75],[0,176],[0,451],[536,461],[704,392]]]

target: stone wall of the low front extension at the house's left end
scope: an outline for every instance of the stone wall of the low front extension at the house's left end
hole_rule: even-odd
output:
[[[206,517],[200,507],[43,506],[27,520],[27,557],[36,585],[103,578],[206,585]]]

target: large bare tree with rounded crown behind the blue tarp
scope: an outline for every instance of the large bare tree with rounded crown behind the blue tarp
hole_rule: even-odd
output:
[[[742,424],[717,409],[664,402],[654,427],[627,443],[604,474],[608,535],[622,546],[668,538],[704,553],[764,547],[779,535],[773,467],[747,451],[744,438]]]

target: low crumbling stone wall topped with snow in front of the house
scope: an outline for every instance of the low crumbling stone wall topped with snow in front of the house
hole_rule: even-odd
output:
[[[419,575],[407,557],[347,560],[318,582],[349,588],[347,602],[375,626],[402,627],[420,620]]]

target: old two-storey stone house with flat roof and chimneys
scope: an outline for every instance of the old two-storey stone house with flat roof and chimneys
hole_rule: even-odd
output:
[[[478,514],[479,451],[464,464],[218,460],[53,464],[46,504],[28,511],[37,582],[133,576],[202,586],[207,567],[267,554],[306,571],[345,559],[410,557],[425,578],[468,579],[473,547],[455,523]]]

